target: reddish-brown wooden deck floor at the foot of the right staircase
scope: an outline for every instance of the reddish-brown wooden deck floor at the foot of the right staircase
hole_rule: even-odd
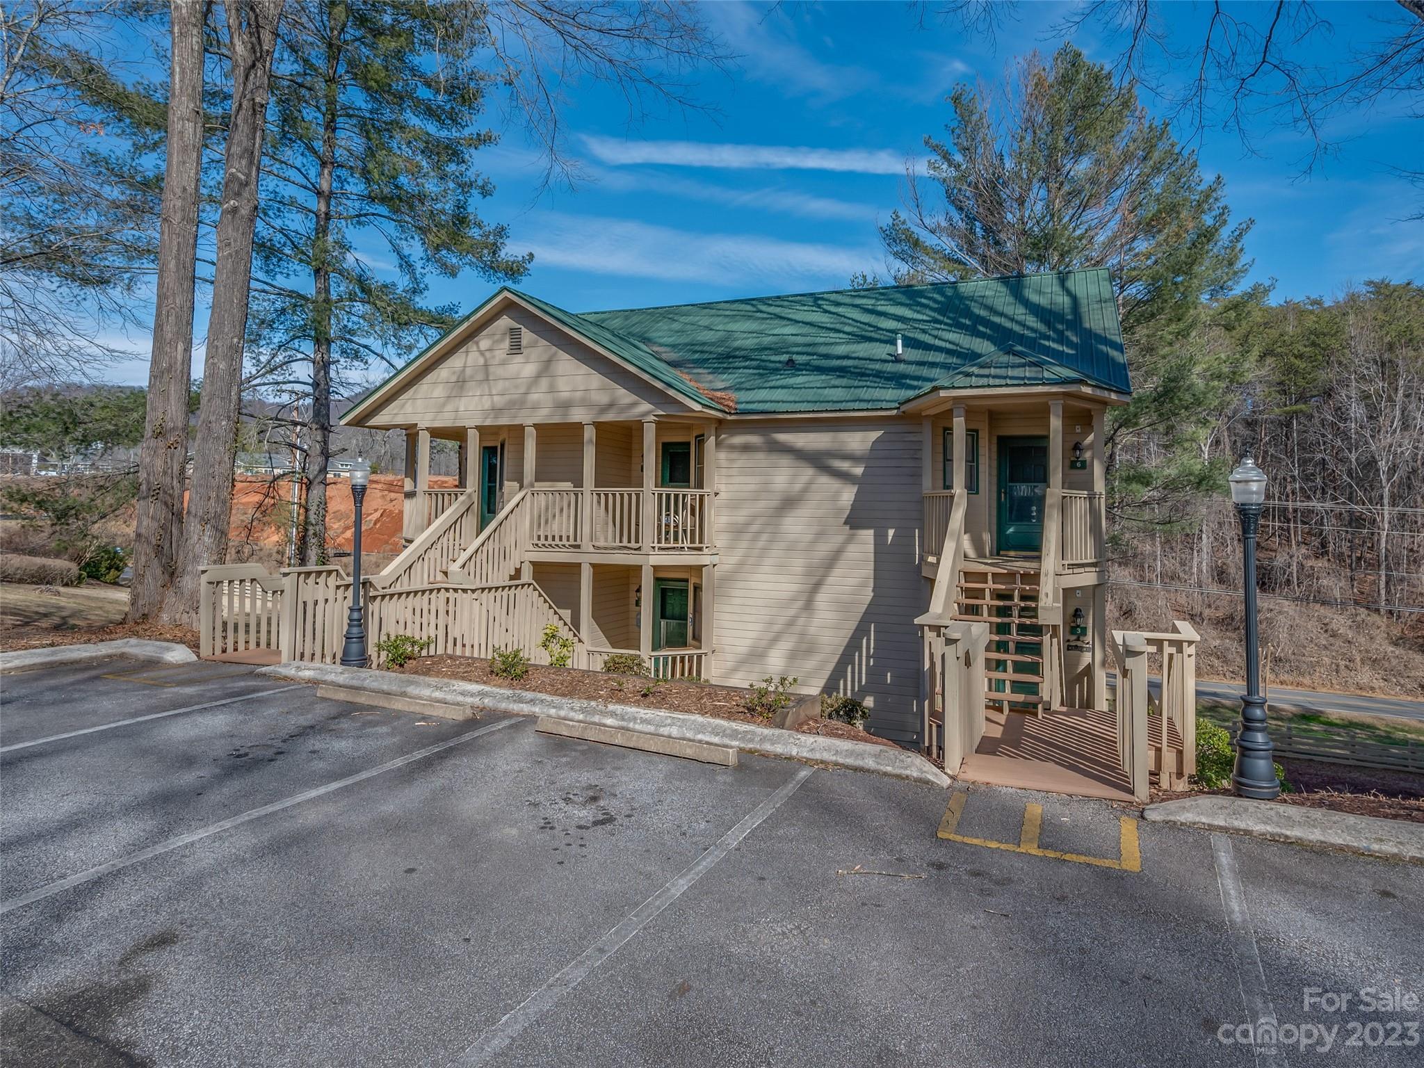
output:
[[[1155,746],[1162,719],[1148,716],[1148,723],[1149,743]],[[1059,709],[1040,718],[991,708],[985,713],[984,738],[964,758],[958,778],[1078,797],[1132,800],[1128,776],[1118,766],[1118,726],[1111,712]]]

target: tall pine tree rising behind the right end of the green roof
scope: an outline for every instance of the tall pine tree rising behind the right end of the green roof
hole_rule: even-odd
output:
[[[997,98],[960,85],[950,105],[948,138],[924,141],[928,179],[881,228],[894,282],[1111,268],[1135,389],[1111,423],[1115,504],[1199,491],[1230,367],[1193,330],[1247,266],[1250,222],[1232,225],[1225,182],[1071,44],[1022,60]]]

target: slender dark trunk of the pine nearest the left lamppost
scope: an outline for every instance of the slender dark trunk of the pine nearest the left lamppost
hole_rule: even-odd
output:
[[[312,246],[312,414],[306,424],[306,514],[302,525],[302,565],[326,562],[326,471],[332,459],[332,272],[328,265],[332,234],[332,187],[336,174],[336,120],[342,63],[345,4],[328,4],[326,80],[322,108],[322,148],[316,175],[316,221]]]

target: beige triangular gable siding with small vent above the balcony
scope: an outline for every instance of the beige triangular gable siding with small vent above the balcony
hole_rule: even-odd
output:
[[[510,326],[524,329],[518,355]],[[654,386],[521,308],[493,318],[376,412],[363,426],[483,426],[521,422],[641,419],[688,412]]]

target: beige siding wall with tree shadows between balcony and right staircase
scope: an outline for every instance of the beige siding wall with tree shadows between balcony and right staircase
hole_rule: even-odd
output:
[[[796,675],[914,740],[920,422],[729,423],[718,468],[716,681]]]

